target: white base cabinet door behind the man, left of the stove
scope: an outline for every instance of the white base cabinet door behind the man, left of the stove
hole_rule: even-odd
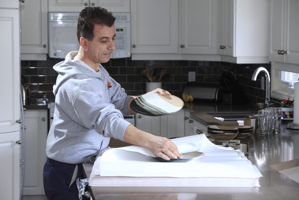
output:
[[[22,195],[45,195],[42,174],[47,160],[48,111],[26,110],[24,118],[25,176]]]

